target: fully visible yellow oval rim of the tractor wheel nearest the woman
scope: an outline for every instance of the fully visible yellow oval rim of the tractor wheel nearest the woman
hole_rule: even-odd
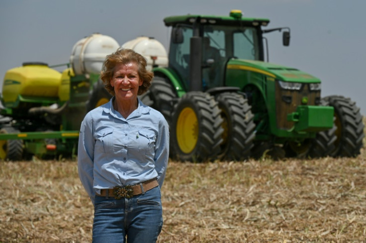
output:
[[[198,139],[198,119],[193,109],[184,108],[177,121],[177,141],[184,153],[193,151]]]

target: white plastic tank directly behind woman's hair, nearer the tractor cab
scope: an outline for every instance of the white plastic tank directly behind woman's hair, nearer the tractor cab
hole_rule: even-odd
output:
[[[144,56],[147,60],[146,69],[153,67],[167,67],[168,55],[162,43],[153,37],[140,36],[136,39],[127,41],[122,45],[123,48],[132,49]]]

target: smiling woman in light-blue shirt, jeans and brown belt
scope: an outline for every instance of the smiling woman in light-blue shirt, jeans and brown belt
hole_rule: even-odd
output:
[[[100,78],[113,95],[80,128],[79,177],[94,205],[93,242],[156,242],[163,226],[160,188],[169,156],[168,124],[144,105],[153,78],[146,59],[118,49]]]

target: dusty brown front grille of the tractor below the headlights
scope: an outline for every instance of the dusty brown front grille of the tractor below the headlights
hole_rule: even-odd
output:
[[[277,128],[290,129],[294,122],[287,121],[287,114],[295,112],[299,105],[319,105],[320,90],[310,91],[309,84],[302,84],[300,90],[285,90],[275,82],[275,101]]]

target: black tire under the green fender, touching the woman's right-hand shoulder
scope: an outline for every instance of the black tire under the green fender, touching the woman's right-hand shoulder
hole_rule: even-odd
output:
[[[140,96],[142,103],[161,112],[168,124],[172,123],[173,100],[176,98],[170,81],[158,76],[153,78],[149,90]]]

